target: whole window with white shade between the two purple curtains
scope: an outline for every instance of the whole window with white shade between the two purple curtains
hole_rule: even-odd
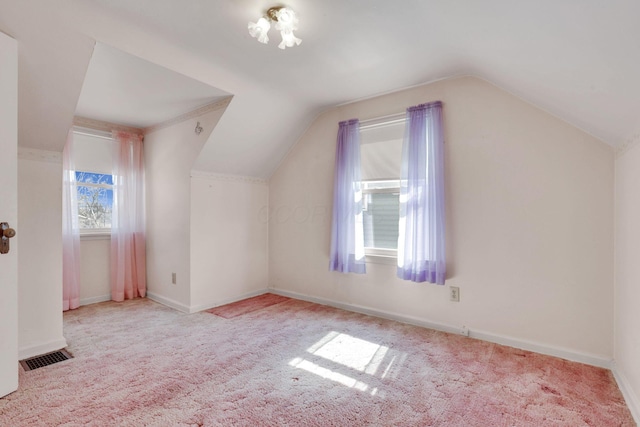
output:
[[[395,257],[400,218],[404,119],[360,127],[366,255]]]

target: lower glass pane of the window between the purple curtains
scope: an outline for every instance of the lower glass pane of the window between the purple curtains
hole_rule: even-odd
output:
[[[397,249],[400,197],[398,193],[364,194],[364,246]]]

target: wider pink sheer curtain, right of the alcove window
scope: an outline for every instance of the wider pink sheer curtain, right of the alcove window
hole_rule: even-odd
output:
[[[111,220],[111,299],[146,294],[144,155],[142,136],[113,132],[113,216]]]

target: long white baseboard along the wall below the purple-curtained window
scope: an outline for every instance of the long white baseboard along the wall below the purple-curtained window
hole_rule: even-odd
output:
[[[396,320],[398,322],[407,323],[410,325],[416,325],[416,326],[422,326],[429,329],[435,329],[437,331],[449,332],[452,334],[461,333],[461,328],[458,326],[448,325],[440,322],[434,322],[428,319],[405,316],[398,313],[377,310],[374,308],[363,307],[356,304],[347,304],[347,303],[333,301],[329,299],[318,298],[310,295],[299,294],[297,292],[285,291],[282,289],[270,288],[269,292],[291,297],[291,298],[304,300],[304,301],[315,302],[322,305],[328,305],[330,307],[341,308],[347,311],[368,314],[370,316],[381,317],[389,320]],[[522,350],[533,351],[535,353],[546,354],[548,356],[560,357],[562,359],[585,363],[587,365],[598,366],[606,369],[611,368],[611,363],[612,363],[611,359],[607,359],[606,357],[602,357],[598,355],[580,353],[580,352],[576,352],[576,351],[565,349],[565,348],[549,346],[546,344],[540,344],[536,342],[521,340],[513,337],[507,337],[507,336],[502,336],[502,335],[493,334],[490,332],[483,332],[483,331],[469,330],[469,337],[476,338],[483,341],[493,342],[496,344],[502,344],[509,347],[515,347]]]

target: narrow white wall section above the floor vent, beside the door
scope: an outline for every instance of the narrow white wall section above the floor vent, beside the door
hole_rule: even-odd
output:
[[[66,346],[62,331],[60,153],[20,149],[18,161],[20,358]]]

